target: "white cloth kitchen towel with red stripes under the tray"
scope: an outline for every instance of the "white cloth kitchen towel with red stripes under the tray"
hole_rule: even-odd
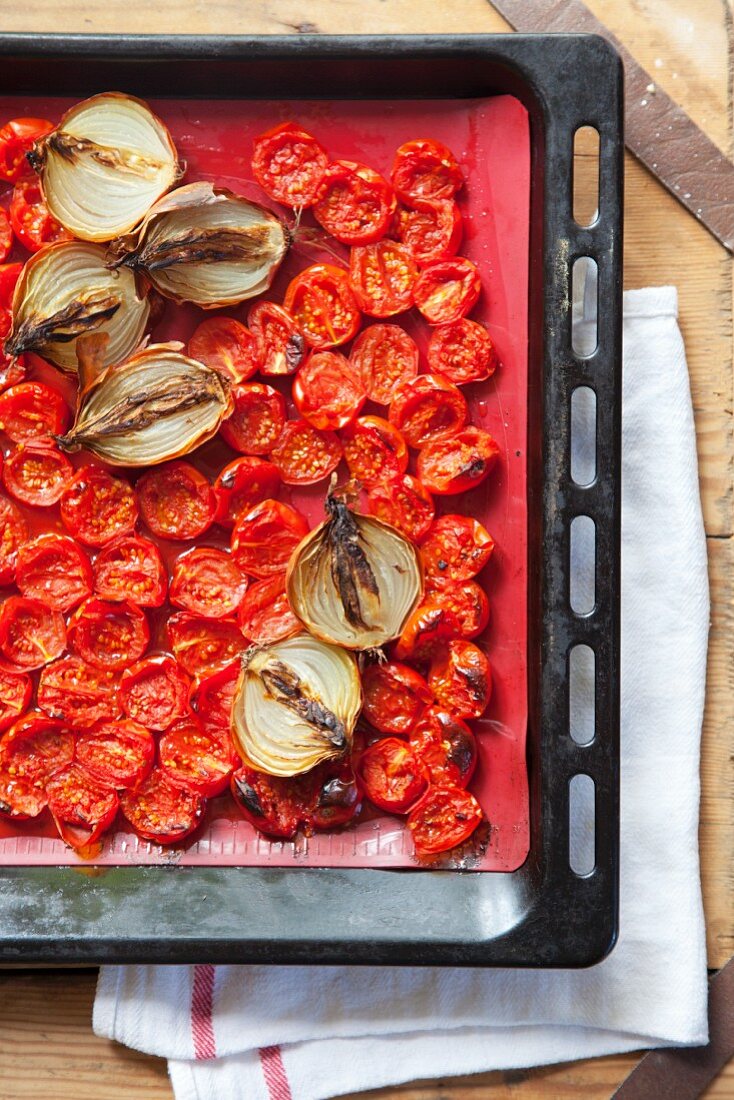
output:
[[[105,967],[95,1031],[168,1058],[177,1100],[322,1100],[706,1042],[698,809],[709,590],[672,287],[625,294],[623,408],[617,946],[588,970]]]

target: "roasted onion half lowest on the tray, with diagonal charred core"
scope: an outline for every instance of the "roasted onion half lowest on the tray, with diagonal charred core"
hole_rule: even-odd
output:
[[[253,768],[299,776],[349,751],[361,704],[352,654],[297,634],[245,654],[232,739]]]

